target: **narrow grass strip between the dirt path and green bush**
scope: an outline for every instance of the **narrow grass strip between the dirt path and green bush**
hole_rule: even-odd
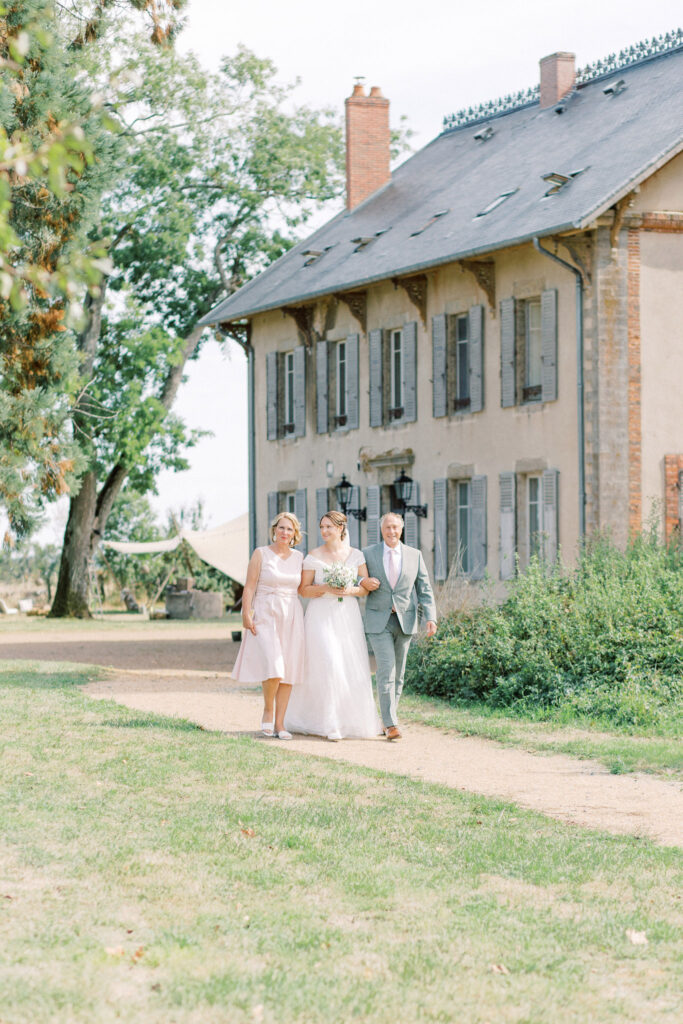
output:
[[[590,723],[560,725],[533,722],[506,715],[481,705],[458,707],[445,700],[404,693],[400,702],[405,721],[453,730],[464,736],[482,736],[509,746],[522,746],[540,754],[567,754],[591,758],[614,774],[647,771],[683,779],[683,741],[680,735],[661,735],[655,730],[606,732]]]

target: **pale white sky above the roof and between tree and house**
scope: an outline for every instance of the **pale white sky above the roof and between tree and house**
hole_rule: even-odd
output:
[[[216,68],[243,43],[270,57],[283,82],[300,79],[300,102],[340,113],[354,77],[365,76],[389,98],[392,123],[407,115],[419,148],[438,134],[444,115],[536,84],[548,53],[570,50],[583,67],[682,23],[680,0],[426,0],[424,7],[415,0],[189,0],[178,45]],[[240,515],[247,509],[247,377],[237,346],[228,358],[207,344],[176,410],[215,437],[190,452],[191,469],[162,474],[157,508],[202,498],[211,525]]]

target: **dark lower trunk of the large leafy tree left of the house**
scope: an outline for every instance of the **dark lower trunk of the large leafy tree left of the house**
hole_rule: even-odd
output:
[[[59,562],[59,579],[50,617],[90,618],[88,606],[89,563],[96,545],[93,531],[97,479],[89,470],[69,506],[69,521]]]

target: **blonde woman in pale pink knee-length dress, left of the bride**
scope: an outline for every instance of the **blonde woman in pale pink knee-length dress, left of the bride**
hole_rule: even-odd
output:
[[[303,678],[303,611],[297,591],[303,555],[301,523],[291,512],[280,512],[270,523],[267,547],[256,548],[249,561],[242,599],[244,633],[232,677],[263,687],[264,736],[291,739],[285,711],[292,686]]]

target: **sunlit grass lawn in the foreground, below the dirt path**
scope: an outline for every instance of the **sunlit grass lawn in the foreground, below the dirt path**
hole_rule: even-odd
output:
[[[680,851],[3,668],[2,1024],[674,1022]]]

